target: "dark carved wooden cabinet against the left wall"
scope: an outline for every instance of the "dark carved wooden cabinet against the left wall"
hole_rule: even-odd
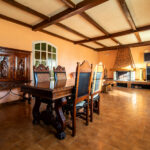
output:
[[[29,51],[0,47],[0,82],[30,81]]]

